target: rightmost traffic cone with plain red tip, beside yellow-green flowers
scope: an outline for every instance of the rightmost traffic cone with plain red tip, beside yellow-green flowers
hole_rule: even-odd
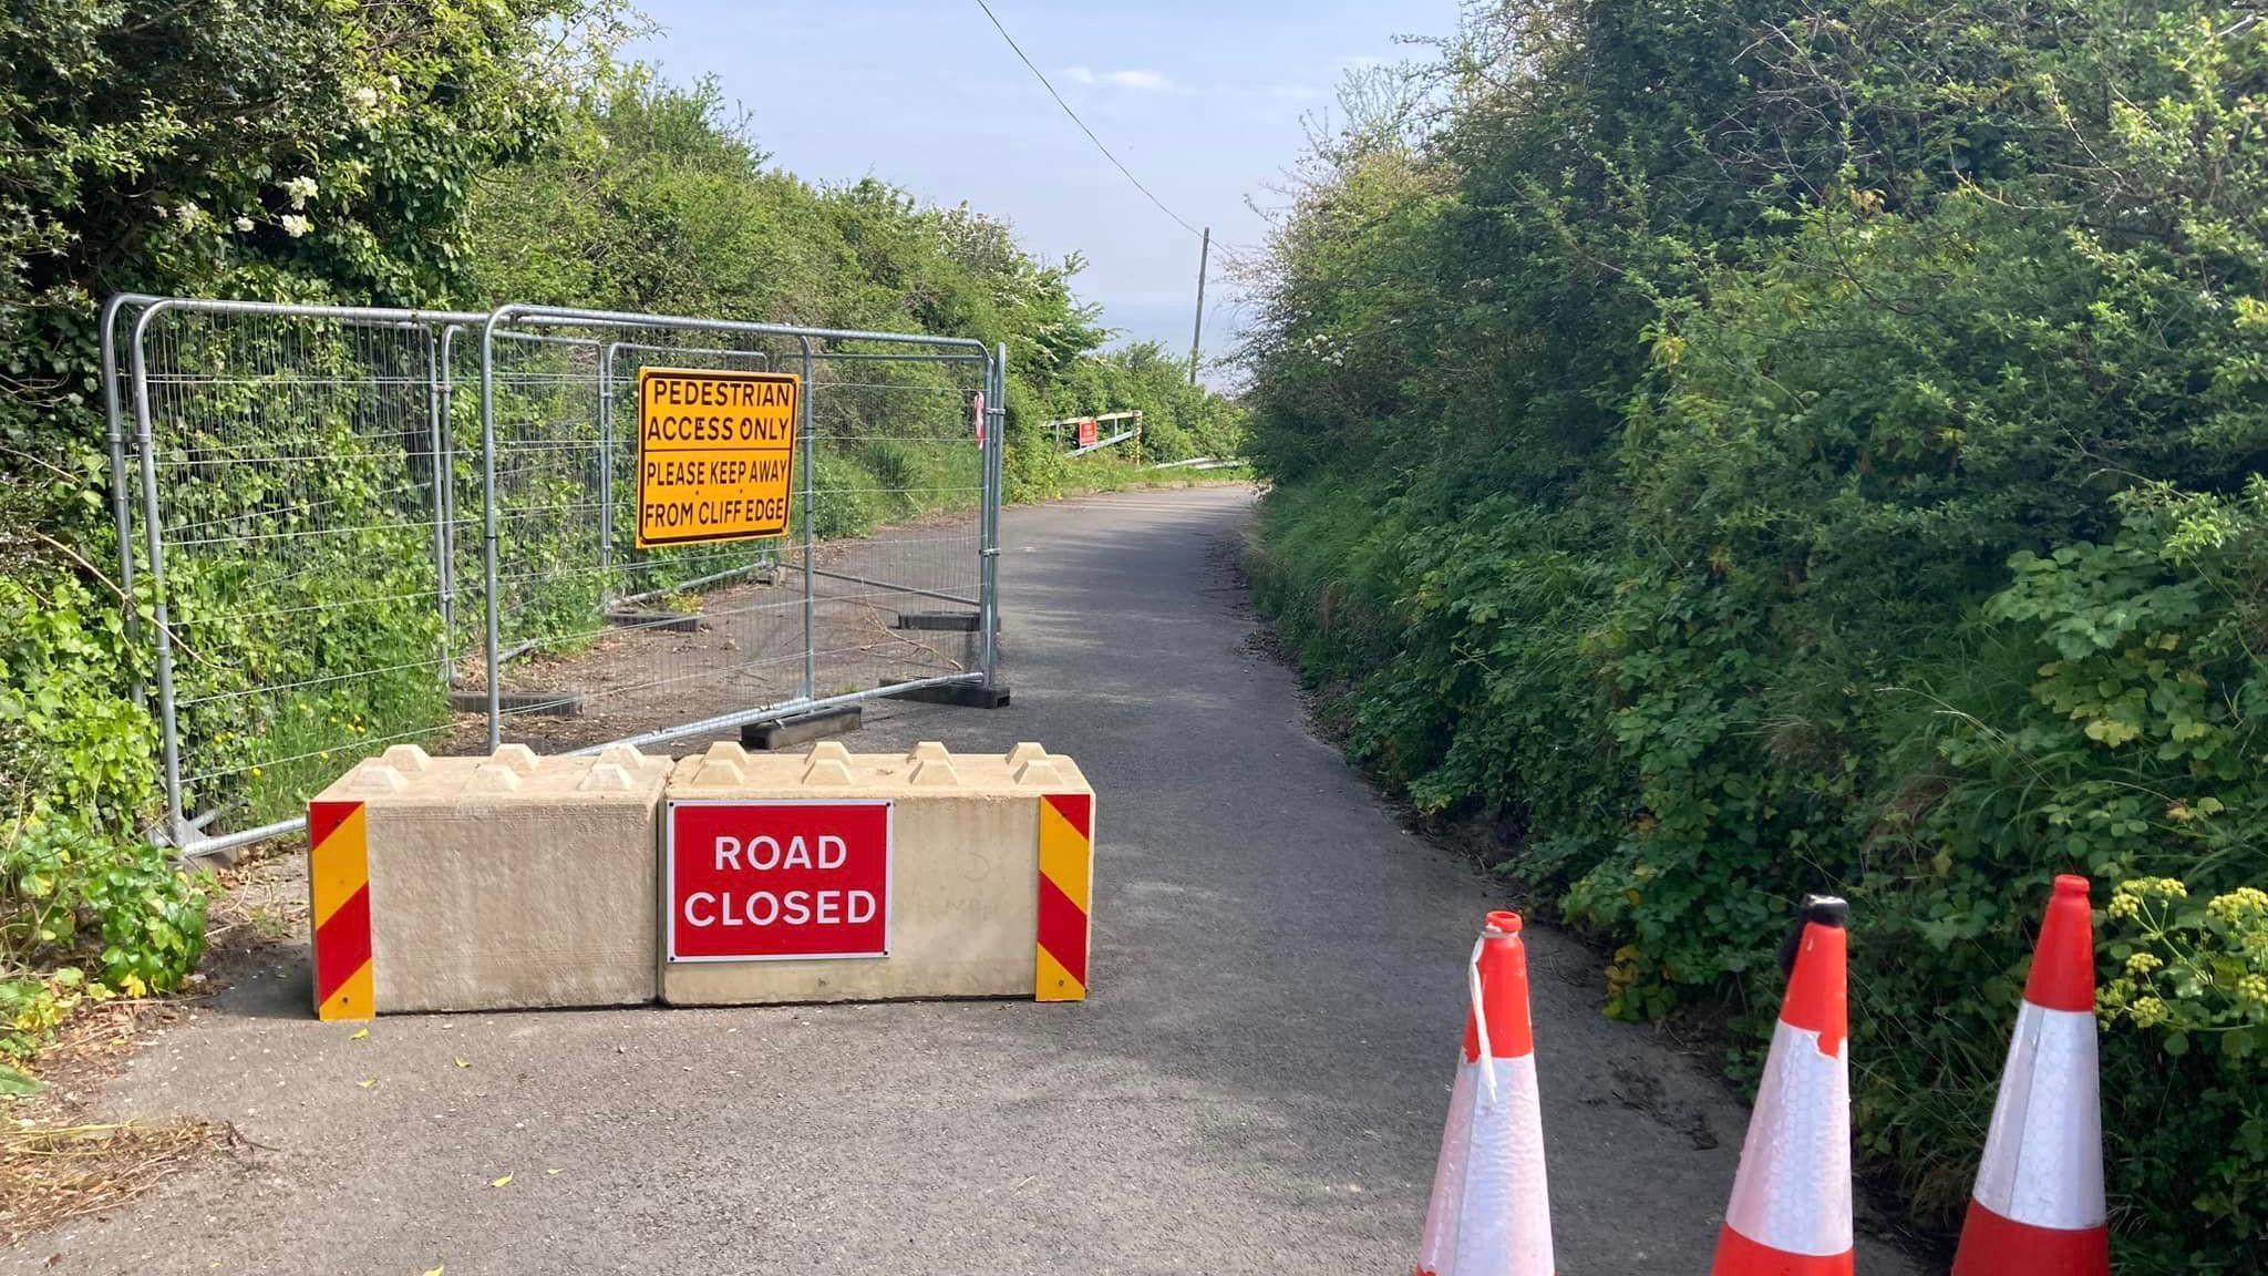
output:
[[[2109,1276],[2096,1081],[2096,929],[2084,876],[2055,879],[2007,1044],[1953,1276]]]

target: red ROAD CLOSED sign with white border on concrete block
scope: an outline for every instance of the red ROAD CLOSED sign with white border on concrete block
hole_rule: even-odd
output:
[[[891,804],[671,801],[669,960],[889,956]]]

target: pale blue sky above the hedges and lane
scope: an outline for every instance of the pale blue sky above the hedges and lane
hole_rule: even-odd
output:
[[[1016,61],[975,0],[644,0],[662,34],[633,54],[671,79],[714,75],[776,163],[814,182],[873,175],[1005,216],[1043,257],[1082,252],[1080,295],[1127,338],[1186,350],[1198,238],[1157,211]],[[993,0],[1025,54],[1159,200],[1216,247],[1256,245],[1300,118],[1349,66],[1440,36],[1456,0]],[[1216,252],[1218,268],[1220,257]],[[1213,275],[1207,352],[1236,325]],[[1216,341],[1218,338],[1218,341]]]

